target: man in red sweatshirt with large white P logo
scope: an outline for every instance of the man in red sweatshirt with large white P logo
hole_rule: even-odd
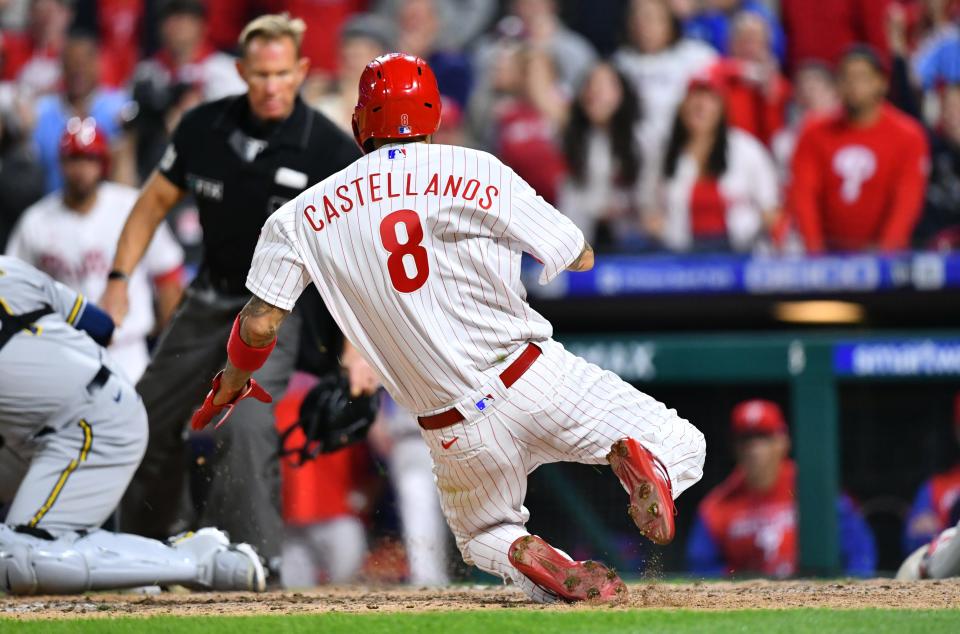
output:
[[[791,209],[810,253],[896,251],[923,208],[923,128],[885,100],[885,66],[869,48],[840,63],[841,112],[811,122],[793,158]]]

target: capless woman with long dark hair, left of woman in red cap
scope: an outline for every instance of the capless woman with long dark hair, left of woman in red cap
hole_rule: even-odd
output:
[[[573,104],[564,135],[568,175],[559,208],[601,249],[639,237],[645,206],[640,121],[639,102],[624,76],[608,63],[596,65]]]

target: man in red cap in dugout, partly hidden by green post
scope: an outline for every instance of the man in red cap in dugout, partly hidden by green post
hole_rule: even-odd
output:
[[[744,401],[731,414],[737,466],[700,503],[687,541],[687,561],[698,575],[797,572],[796,465],[780,407]],[[837,500],[843,567],[869,576],[876,547],[869,526],[846,496]]]

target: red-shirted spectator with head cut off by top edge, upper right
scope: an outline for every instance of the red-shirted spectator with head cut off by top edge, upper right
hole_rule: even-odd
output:
[[[843,52],[863,42],[886,55],[887,7],[893,0],[780,0],[787,32],[787,65],[807,60],[836,63]]]

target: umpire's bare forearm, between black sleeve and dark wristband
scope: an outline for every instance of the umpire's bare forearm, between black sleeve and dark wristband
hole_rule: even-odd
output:
[[[136,268],[157,227],[182,197],[183,191],[163,174],[154,172],[150,176],[123,225],[113,270],[129,275]]]

